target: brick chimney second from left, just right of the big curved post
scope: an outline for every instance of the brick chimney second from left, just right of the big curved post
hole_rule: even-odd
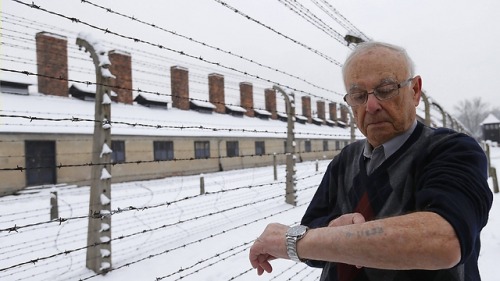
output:
[[[108,53],[111,62],[110,71],[116,78],[113,91],[118,95],[112,97],[116,102],[132,104],[132,57],[129,53],[117,50]]]

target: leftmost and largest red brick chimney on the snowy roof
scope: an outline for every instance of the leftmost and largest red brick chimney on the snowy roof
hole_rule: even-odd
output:
[[[68,40],[64,36],[48,32],[39,32],[35,38],[39,74],[38,92],[67,97],[69,92]],[[55,77],[55,79],[50,77]]]

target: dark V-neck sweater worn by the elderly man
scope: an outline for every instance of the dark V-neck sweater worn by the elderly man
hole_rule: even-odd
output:
[[[435,212],[458,236],[462,258],[457,266],[436,271],[363,268],[356,271],[353,280],[481,280],[477,267],[480,232],[488,221],[493,195],[487,182],[486,156],[478,143],[465,134],[418,123],[402,147],[367,175],[365,141],[346,146],[332,160],[302,224],[324,227],[332,219],[355,211],[367,220]],[[357,208],[363,196],[371,203],[369,210]],[[321,280],[338,280],[337,264],[308,264],[323,267]]]

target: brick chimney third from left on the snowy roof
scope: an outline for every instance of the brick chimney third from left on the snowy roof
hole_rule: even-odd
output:
[[[187,68],[178,65],[170,67],[170,87],[172,107],[189,110],[189,72]]]

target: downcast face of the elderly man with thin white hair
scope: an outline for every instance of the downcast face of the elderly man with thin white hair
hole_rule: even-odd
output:
[[[403,83],[409,77],[404,57],[390,49],[377,47],[354,57],[345,75],[347,93],[372,92],[374,88],[388,83]],[[377,147],[410,128],[416,117],[416,106],[420,102],[422,81],[416,76],[399,89],[399,94],[380,101],[368,95],[365,104],[353,107],[359,130],[368,142]]]

